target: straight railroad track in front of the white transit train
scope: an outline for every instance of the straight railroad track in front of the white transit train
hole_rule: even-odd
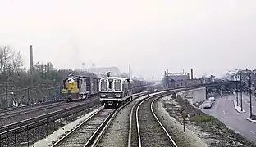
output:
[[[133,100],[139,96],[144,95],[137,95]],[[132,100],[130,100],[130,102],[131,101]],[[117,113],[126,105],[130,104],[130,102],[121,105],[118,109],[102,109],[101,111],[98,111],[91,117],[87,118],[84,122],[81,122],[80,125],[67,133],[66,136],[63,136],[62,139],[57,140],[52,147],[97,146]]]

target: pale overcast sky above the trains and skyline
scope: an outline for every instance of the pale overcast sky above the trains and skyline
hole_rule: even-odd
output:
[[[117,66],[144,78],[163,71],[220,75],[256,68],[255,0],[0,0],[0,45],[29,67]]]

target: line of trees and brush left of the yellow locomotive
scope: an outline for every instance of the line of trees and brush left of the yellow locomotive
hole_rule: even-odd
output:
[[[51,62],[36,63],[25,69],[20,51],[0,46],[0,109],[56,99],[62,80],[70,73],[95,76],[93,73],[72,69],[55,69]]]

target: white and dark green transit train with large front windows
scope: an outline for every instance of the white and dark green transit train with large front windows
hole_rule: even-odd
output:
[[[101,78],[99,87],[99,101],[105,108],[118,107],[132,99],[133,82],[129,78]]]

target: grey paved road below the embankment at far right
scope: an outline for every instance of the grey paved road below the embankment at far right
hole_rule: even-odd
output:
[[[236,100],[235,95],[222,96],[217,98],[215,104],[211,109],[202,109],[204,113],[213,115],[220,121],[231,127],[234,131],[241,135],[253,140],[256,143],[256,123],[249,122],[246,118],[249,118],[249,96],[243,94],[243,104],[246,113],[238,113],[235,109],[233,100]],[[240,95],[239,95],[240,96]],[[253,98],[254,112],[256,113],[256,102]],[[240,103],[239,103],[240,104]]]

